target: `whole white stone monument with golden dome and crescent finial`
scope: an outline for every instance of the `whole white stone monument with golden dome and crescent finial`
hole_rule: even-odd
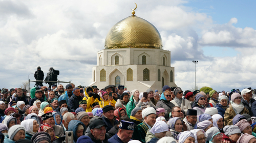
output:
[[[145,92],[151,88],[160,93],[164,85],[177,87],[170,51],[163,50],[157,28],[134,15],[134,10],[132,16],[117,22],[106,35],[105,49],[97,52],[90,86],[103,89],[110,84],[122,84],[129,91]]]

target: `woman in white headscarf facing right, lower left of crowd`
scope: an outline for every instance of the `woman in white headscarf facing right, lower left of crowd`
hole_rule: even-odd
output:
[[[34,119],[28,119],[24,120],[22,122],[22,125],[25,128],[26,131],[26,139],[31,140],[31,137],[38,131],[39,129],[39,124],[37,123],[36,120]]]

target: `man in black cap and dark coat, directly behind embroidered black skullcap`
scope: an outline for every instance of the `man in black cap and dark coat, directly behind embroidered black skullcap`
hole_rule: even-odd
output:
[[[108,133],[109,130],[113,128],[113,126],[118,124],[118,121],[116,120],[117,117],[114,115],[114,108],[111,105],[104,106],[102,108],[102,111],[103,111],[102,119],[103,119],[103,122],[106,125],[108,125],[108,128],[106,129],[106,133]]]

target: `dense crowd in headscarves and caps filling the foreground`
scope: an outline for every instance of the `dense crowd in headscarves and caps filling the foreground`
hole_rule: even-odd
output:
[[[76,143],[256,143],[251,88],[205,93],[165,85],[162,93],[130,91],[73,83],[30,93],[3,88],[0,142],[61,142],[72,131]]]

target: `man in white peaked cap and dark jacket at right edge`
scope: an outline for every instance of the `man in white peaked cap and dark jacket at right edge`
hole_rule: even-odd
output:
[[[242,104],[249,110],[249,115],[252,116],[251,106],[255,99],[252,98],[252,90],[243,89],[242,92]]]

